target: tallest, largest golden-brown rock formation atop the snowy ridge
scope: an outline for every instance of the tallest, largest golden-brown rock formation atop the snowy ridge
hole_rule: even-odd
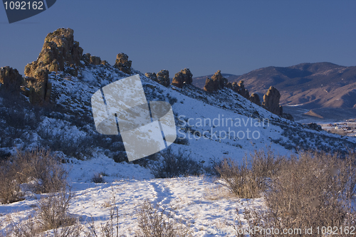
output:
[[[58,72],[64,71],[66,67],[68,73],[78,75],[83,48],[74,41],[73,33],[71,28],[58,28],[53,33],[48,33],[37,60],[26,65],[25,75],[33,78],[38,74],[38,69]]]

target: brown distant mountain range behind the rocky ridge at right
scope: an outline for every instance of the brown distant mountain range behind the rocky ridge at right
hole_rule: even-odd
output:
[[[244,80],[250,93],[266,93],[273,85],[281,93],[281,105],[298,105],[303,110],[356,108],[356,66],[333,63],[300,63],[290,67],[267,67],[244,75],[229,75],[229,82]],[[194,78],[204,87],[208,76]],[[353,111],[353,110],[351,110]],[[356,116],[356,110],[355,110]]]

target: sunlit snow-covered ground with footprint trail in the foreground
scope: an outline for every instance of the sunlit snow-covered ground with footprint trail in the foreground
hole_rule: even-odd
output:
[[[110,220],[110,204],[114,196],[120,236],[135,236],[139,228],[137,211],[146,200],[157,204],[159,211],[164,210],[164,214],[171,215],[179,225],[189,228],[193,236],[234,236],[233,226],[237,215],[243,216],[244,206],[263,206],[263,199],[248,201],[236,198],[211,177],[153,179],[147,169],[110,161],[112,159],[103,158],[66,164],[71,169],[70,179],[73,179],[71,185],[75,194],[69,212],[85,228],[94,221],[96,228],[100,229]],[[89,181],[98,171],[105,172],[107,183]],[[41,195],[31,195],[24,201],[0,205],[0,233],[5,233],[12,224],[34,216],[40,199]]]

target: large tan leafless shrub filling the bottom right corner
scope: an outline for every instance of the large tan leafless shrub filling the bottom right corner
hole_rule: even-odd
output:
[[[337,226],[338,236],[345,236],[345,232],[340,233],[340,227],[355,226],[356,214],[351,205],[356,185],[355,161],[352,152],[343,159],[324,152],[300,152],[298,157],[291,156],[264,192],[266,210],[245,209],[248,226],[303,230],[293,236],[303,236],[305,228],[314,230],[305,236],[321,236],[323,226]],[[262,231],[253,236],[266,235]]]

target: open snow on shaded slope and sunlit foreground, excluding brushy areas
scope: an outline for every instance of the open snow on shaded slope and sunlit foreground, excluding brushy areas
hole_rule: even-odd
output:
[[[126,76],[111,66],[98,65],[84,68],[78,78],[52,73],[50,82],[57,105],[62,105],[69,111],[64,114],[67,119],[83,119],[85,116],[91,119],[90,99],[93,93]],[[189,154],[190,158],[204,163],[205,166],[219,162],[224,157],[239,162],[253,150],[266,147],[271,147],[271,150],[278,154],[290,154],[293,150],[286,149],[282,144],[293,141],[283,135],[283,132],[286,132],[283,126],[292,131],[296,141],[305,138],[312,148],[314,137],[320,135],[337,139],[341,143],[356,143],[355,137],[341,139],[338,135],[306,129],[296,122],[273,115],[229,89],[209,94],[192,85],[184,85],[182,89],[173,90],[172,87],[165,88],[153,82],[141,73],[140,78],[147,101],[169,98],[177,100],[171,102],[177,135],[187,138],[188,144],[174,143],[170,146],[172,150],[178,152],[181,149]],[[231,124],[229,119],[234,123]],[[214,121],[219,124],[214,124]],[[93,121],[90,122],[83,127],[77,127],[65,120],[43,117],[41,127],[53,135],[64,134],[75,140],[96,132]],[[234,136],[229,137],[229,132]],[[310,137],[304,137],[305,135]],[[32,147],[36,140],[40,139],[36,133],[33,137],[36,139],[33,139],[35,142],[31,144]],[[335,146],[335,143],[328,142],[327,139],[323,144],[330,148]],[[58,154],[66,157],[63,152]],[[234,236],[234,228],[231,225],[236,223],[236,210],[242,216],[247,205],[258,208],[264,206],[263,199],[236,198],[219,180],[212,177],[154,179],[150,169],[138,164],[115,163],[109,154],[98,147],[94,147],[91,156],[85,160],[72,157],[66,159],[68,163],[63,165],[68,169],[68,181],[75,193],[70,214],[78,216],[83,225],[93,220],[95,226],[100,228],[102,223],[108,221],[108,204],[115,196],[120,234],[124,236],[133,236],[137,231],[137,209],[145,200],[158,204],[160,209],[172,214],[177,222],[189,227],[194,236]],[[103,175],[105,183],[93,183],[91,179],[95,174]],[[11,221],[19,223],[33,215],[40,199],[41,195],[28,193],[23,201],[0,205],[0,235],[11,226]]]

